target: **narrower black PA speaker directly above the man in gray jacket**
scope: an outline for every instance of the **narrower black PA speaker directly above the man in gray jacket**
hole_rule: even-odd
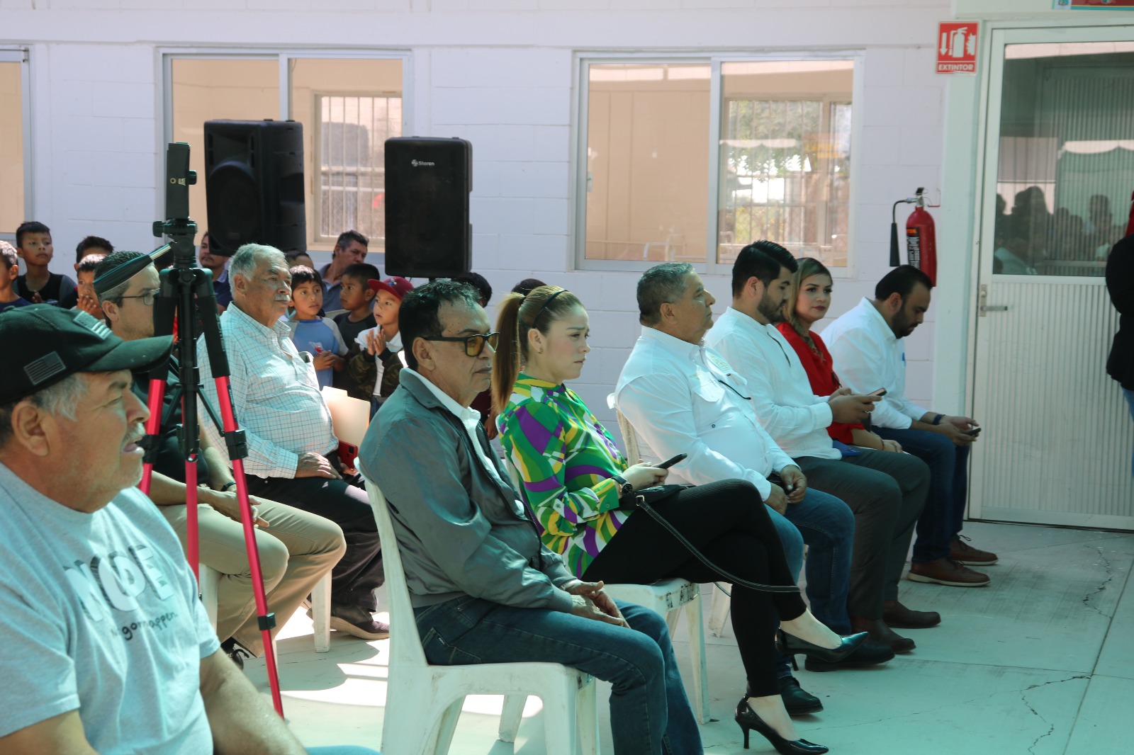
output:
[[[416,136],[387,139],[386,272],[403,278],[468,272],[472,189],[472,143]]]

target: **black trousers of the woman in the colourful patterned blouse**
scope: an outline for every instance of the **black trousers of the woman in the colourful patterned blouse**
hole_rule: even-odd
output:
[[[653,508],[719,568],[765,585],[795,584],[776,527],[751,483],[725,480],[689,487]],[[728,582],[645,511],[631,515],[583,575],[587,582],[602,579],[610,584],[649,584],[672,577],[696,583]],[[733,630],[750,695],[779,694],[776,628],[781,619],[795,619],[804,610],[798,593],[733,586]]]

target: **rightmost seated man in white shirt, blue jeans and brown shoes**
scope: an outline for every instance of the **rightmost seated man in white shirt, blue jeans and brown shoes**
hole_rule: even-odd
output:
[[[823,331],[835,368],[857,392],[886,389],[872,414],[874,432],[902,444],[930,468],[930,493],[917,521],[909,579],[954,587],[982,587],[985,574],[968,566],[990,566],[996,553],[960,538],[968,492],[968,447],[980,432],[970,417],[928,412],[906,398],[904,338],[929,309],[933,282],[912,265],[888,272],[874,288]]]

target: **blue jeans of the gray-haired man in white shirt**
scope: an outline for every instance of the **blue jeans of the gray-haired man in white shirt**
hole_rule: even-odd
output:
[[[807,544],[807,602],[816,619],[840,635],[850,634],[847,592],[854,554],[854,512],[840,499],[807,489],[803,500],[788,503],[787,516],[768,509],[784,543],[792,574],[803,563]]]

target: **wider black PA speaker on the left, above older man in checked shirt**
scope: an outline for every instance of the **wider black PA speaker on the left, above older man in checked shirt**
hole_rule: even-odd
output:
[[[206,120],[205,204],[213,254],[242,244],[306,252],[303,124]]]

